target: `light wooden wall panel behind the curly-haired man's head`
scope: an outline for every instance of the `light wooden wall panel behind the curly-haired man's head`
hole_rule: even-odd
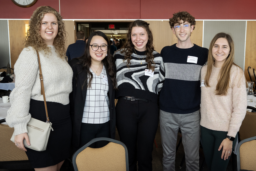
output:
[[[173,34],[169,21],[146,21],[150,25],[150,29],[153,34],[153,44],[155,51],[161,52],[165,46],[173,45],[177,43],[177,37]],[[196,28],[191,34],[191,42],[198,46],[202,46],[203,41],[203,21],[196,21]]]

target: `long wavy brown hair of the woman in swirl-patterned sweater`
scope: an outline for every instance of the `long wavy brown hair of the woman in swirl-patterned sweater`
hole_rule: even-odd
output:
[[[131,38],[131,33],[132,33],[132,28],[133,27],[142,27],[147,31],[147,35],[148,35],[148,41],[146,44],[146,62],[147,62],[147,68],[151,69],[152,71],[155,70],[155,62],[154,60],[154,55],[153,55],[153,51],[154,51],[154,46],[153,46],[153,35],[152,32],[150,30],[150,28],[148,27],[148,23],[142,20],[136,20],[132,23],[129,24],[128,26],[128,33],[126,36],[126,42],[121,50],[121,53],[124,53],[124,61],[127,59],[126,65],[129,68],[129,66],[131,65],[131,55],[133,54],[133,49],[134,49],[134,45],[132,44],[132,38]],[[153,64],[153,65],[152,65]]]

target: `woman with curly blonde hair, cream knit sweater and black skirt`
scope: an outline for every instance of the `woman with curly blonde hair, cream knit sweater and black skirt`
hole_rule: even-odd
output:
[[[29,21],[25,48],[14,65],[15,88],[10,94],[11,108],[6,122],[14,127],[15,145],[26,151],[35,170],[60,169],[69,157],[72,124],[69,114],[69,93],[72,91],[72,69],[65,59],[65,25],[60,14],[49,6],[38,7]],[[30,118],[44,121],[46,112],[39,80],[39,53],[48,116],[52,123],[47,148],[36,151],[30,145],[27,123]]]

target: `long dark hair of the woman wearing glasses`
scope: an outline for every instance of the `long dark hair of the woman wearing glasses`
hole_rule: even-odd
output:
[[[89,38],[88,38],[88,42],[85,46],[85,52],[83,54],[83,56],[81,56],[80,58],[78,58],[78,61],[80,64],[83,65],[83,70],[85,70],[90,76],[89,76],[89,83],[87,85],[87,88],[90,86],[91,87],[91,83],[92,83],[92,73],[90,71],[90,67],[91,67],[91,56],[90,56],[90,43],[92,40],[93,36],[101,36],[105,39],[105,41],[108,43],[108,49],[107,49],[107,55],[103,60],[103,64],[106,67],[106,69],[108,69],[108,73],[111,77],[111,81],[113,84],[113,88],[116,89],[116,79],[115,79],[115,64],[114,64],[114,58],[113,56],[110,54],[110,45],[109,45],[109,40],[108,37],[101,31],[97,31],[97,32],[93,32]],[[83,83],[83,85],[85,85],[87,83],[87,80]]]

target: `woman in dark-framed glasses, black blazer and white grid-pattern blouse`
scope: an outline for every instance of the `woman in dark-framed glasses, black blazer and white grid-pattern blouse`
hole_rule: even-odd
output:
[[[113,61],[108,38],[97,31],[89,36],[84,55],[69,62],[73,70],[73,91],[69,96],[73,150],[94,138],[115,138]],[[90,147],[100,148],[106,144],[99,141]]]

